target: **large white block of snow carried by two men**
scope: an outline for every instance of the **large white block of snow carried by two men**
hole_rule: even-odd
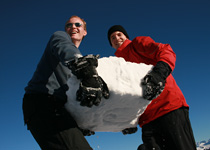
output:
[[[100,58],[97,71],[108,85],[110,98],[103,98],[99,106],[80,106],[76,101],[80,81],[72,75],[68,80],[66,108],[83,129],[120,132],[136,127],[138,117],[150,103],[142,98],[140,81],[151,68],[152,65],[126,62],[123,58]]]

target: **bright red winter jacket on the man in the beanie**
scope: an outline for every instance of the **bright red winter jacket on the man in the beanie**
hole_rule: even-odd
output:
[[[140,36],[133,41],[126,40],[115,52],[117,57],[126,61],[156,65],[158,61],[166,62],[174,70],[176,54],[169,44],[156,43],[150,37]],[[170,74],[166,79],[163,92],[147,106],[139,118],[139,125],[149,123],[180,107],[189,107],[184,95]]]

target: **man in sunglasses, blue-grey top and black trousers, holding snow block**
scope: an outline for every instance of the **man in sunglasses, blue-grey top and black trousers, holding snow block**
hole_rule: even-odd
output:
[[[106,83],[96,71],[98,56],[83,57],[78,49],[86,35],[86,22],[70,17],[65,32],[51,36],[25,88],[24,121],[43,150],[92,150],[84,135],[93,132],[80,129],[64,107],[71,73],[81,80],[77,91],[81,106],[97,106],[102,96],[109,97]]]

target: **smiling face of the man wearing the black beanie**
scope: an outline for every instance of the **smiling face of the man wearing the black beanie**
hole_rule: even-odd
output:
[[[114,49],[118,49],[127,37],[120,31],[113,32],[110,36],[111,44]]]

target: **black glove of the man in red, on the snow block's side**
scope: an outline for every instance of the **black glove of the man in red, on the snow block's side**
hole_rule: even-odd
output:
[[[157,98],[164,90],[166,78],[171,71],[167,63],[163,61],[157,62],[152,71],[143,78],[143,97],[147,100]]]

